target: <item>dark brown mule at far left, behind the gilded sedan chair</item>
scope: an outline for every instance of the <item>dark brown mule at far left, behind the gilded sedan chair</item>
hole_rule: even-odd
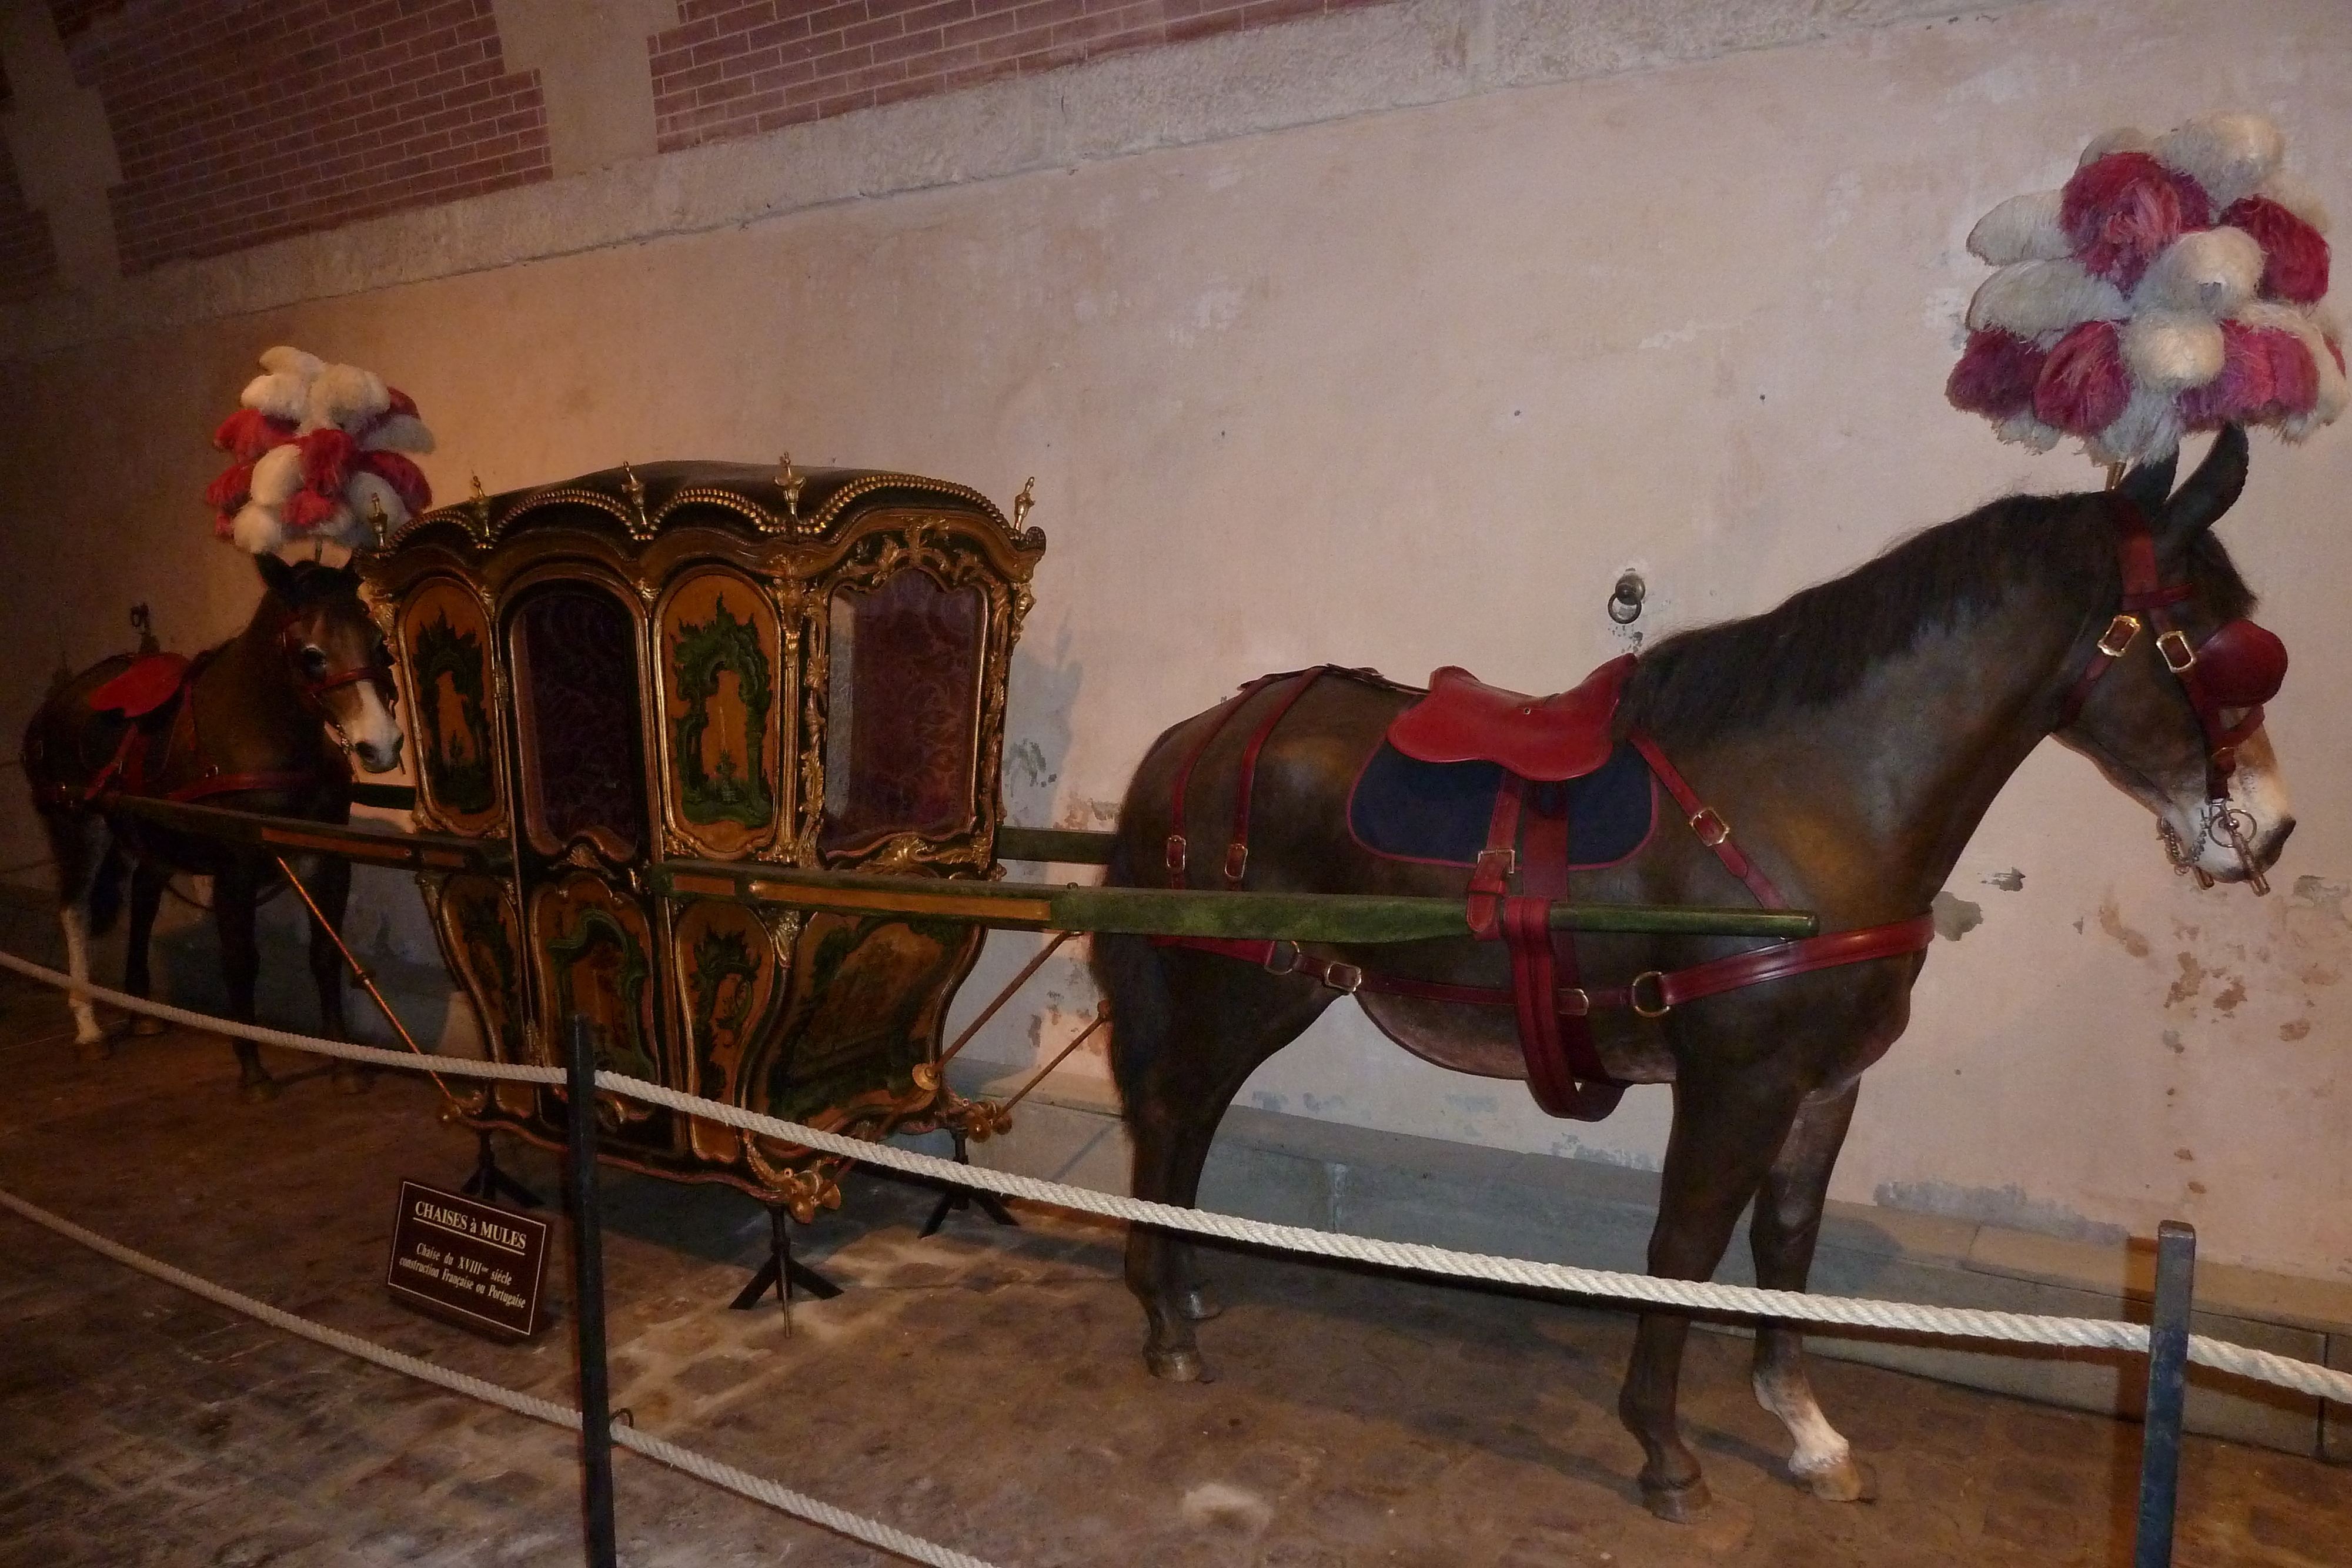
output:
[[[254,1020],[254,905],[278,882],[278,867],[256,851],[108,811],[108,799],[120,790],[343,823],[350,816],[350,769],[341,752],[348,750],[369,773],[400,764],[390,665],[360,599],[360,578],[315,562],[289,567],[275,555],[259,557],[259,567],[266,592],[247,628],[198,656],[183,684],[162,668],[160,679],[132,698],[132,708],[158,703],[143,717],[92,708],[94,693],[139,663],[118,654],[54,691],[24,731],[24,771],[49,832],[73,976],[89,978],[89,936],[103,933],[120,910],[125,860],[132,867],[132,924],[122,990],[134,997],[148,994],[148,936],[172,872],[209,875],[228,1016],[240,1023]],[[134,677],[127,684],[141,682]],[[111,696],[120,689],[113,686]],[[296,872],[327,922],[341,926],[350,863],[322,856]],[[329,1039],[343,1039],[336,966],[334,938],[313,919],[310,976]],[[82,1056],[103,1058],[106,1034],[87,997],[73,999],[73,1023]],[[278,1091],[252,1041],[238,1041],[238,1065],[247,1100]],[[358,1088],[362,1079],[343,1072],[336,1081]]]

